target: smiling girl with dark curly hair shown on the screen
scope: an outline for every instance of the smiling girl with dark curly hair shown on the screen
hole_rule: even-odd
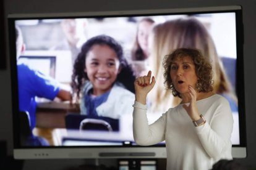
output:
[[[72,89],[80,100],[80,113],[90,118],[119,119],[131,114],[134,73],[121,45],[110,36],[88,39],[74,63]]]

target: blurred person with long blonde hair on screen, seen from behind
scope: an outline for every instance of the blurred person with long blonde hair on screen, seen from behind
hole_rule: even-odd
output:
[[[150,68],[156,78],[155,87],[148,95],[152,111],[168,110],[181,102],[173,97],[171,91],[164,91],[162,62],[164,55],[175,49],[185,47],[199,49],[212,63],[213,92],[228,99],[232,111],[237,111],[237,98],[233,94],[231,83],[216,52],[216,47],[207,28],[196,18],[177,18],[155,25],[150,35]],[[170,97],[171,96],[171,97]]]

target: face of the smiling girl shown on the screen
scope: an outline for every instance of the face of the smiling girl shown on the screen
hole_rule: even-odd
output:
[[[116,52],[106,45],[92,46],[85,59],[84,71],[93,84],[94,95],[109,91],[120,71]]]

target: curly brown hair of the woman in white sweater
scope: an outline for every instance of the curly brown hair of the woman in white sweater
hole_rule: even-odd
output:
[[[171,65],[177,59],[183,57],[191,57],[195,65],[195,73],[198,77],[196,90],[198,92],[210,92],[213,91],[213,70],[210,61],[207,57],[204,57],[202,52],[198,49],[180,48],[176,49],[171,54],[165,55],[163,60],[164,67],[164,85],[166,90],[171,90],[173,95],[180,97],[181,95],[173,86],[173,81],[170,76]]]

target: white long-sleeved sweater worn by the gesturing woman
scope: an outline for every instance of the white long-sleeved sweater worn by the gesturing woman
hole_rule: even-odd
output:
[[[167,169],[211,169],[220,159],[232,159],[233,116],[228,100],[215,94],[197,101],[207,120],[195,127],[179,104],[169,108],[155,123],[148,125],[146,105],[134,103],[134,140],[139,145],[154,145],[165,140]]]

